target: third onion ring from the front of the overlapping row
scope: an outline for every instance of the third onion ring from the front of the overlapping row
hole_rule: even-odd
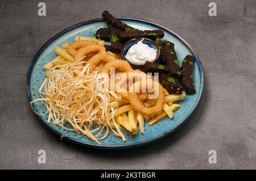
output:
[[[111,69],[123,69],[123,71],[133,71],[133,68],[131,68],[131,65],[125,61],[125,60],[118,60],[110,61],[104,65],[102,68],[102,73],[110,74]]]

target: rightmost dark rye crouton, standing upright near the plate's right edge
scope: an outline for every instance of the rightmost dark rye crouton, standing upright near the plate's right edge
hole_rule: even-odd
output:
[[[195,58],[190,55],[187,55],[182,61],[181,85],[183,85],[184,90],[187,94],[194,94],[196,92],[196,89],[193,83],[193,75],[192,75],[192,68],[194,63],[195,63]]]

